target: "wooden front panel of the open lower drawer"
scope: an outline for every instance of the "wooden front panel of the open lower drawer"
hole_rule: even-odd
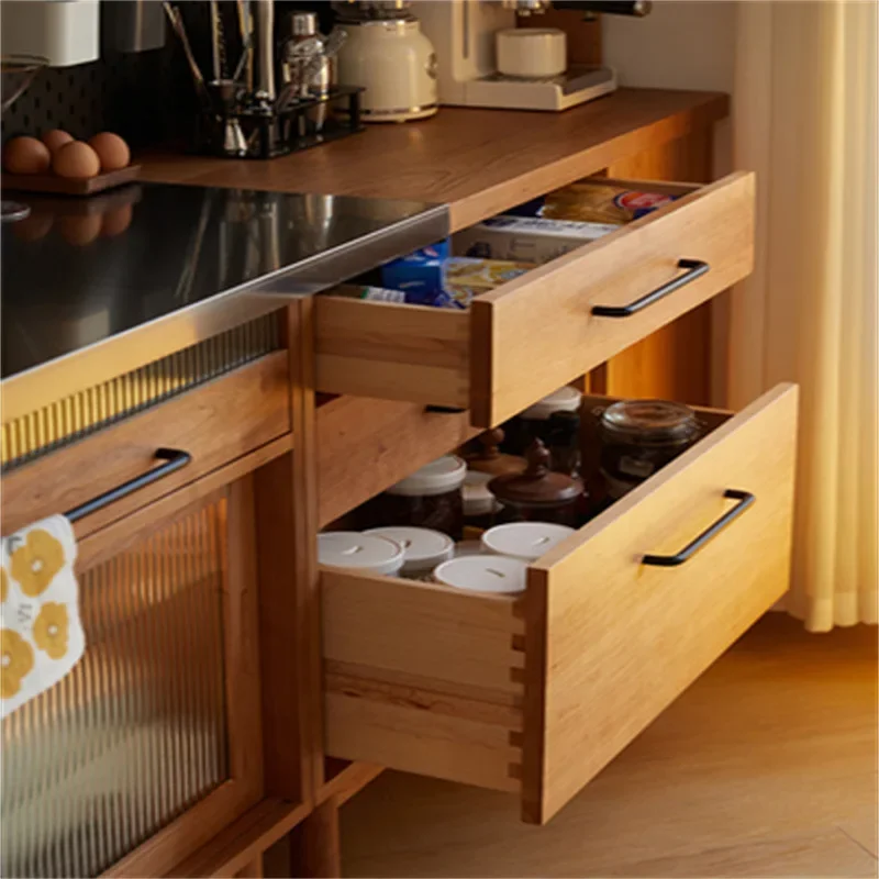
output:
[[[730,419],[547,554],[526,599],[523,817],[543,823],[787,589],[797,388]],[[679,567],[674,554],[756,502]]]

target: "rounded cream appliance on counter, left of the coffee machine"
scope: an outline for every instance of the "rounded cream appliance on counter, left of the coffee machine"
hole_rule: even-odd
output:
[[[338,51],[338,84],[363,86],[364,122],[404,122],[432,116],[437,108],[436,54],[408,8],[352,4],[337,26],[345,33]],[[336,4],[336,9],[340,4]]]

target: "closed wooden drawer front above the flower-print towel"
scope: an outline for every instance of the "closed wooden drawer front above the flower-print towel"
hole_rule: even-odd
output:
[[[288,355],[269,354],[3,477],[3,533],[62,513],[155,466],[160,447],[192,460],[81,521],[78,535],[188,485],[290,431]]]

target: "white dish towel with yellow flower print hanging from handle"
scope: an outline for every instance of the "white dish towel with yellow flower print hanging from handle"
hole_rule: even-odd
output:
[[[74,576],[76,538],[63,515],[0,546],[0,716],[57,683],[86,649]]]

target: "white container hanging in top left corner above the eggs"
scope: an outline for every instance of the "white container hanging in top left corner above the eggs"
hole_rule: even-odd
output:
[[[3,55],[37,55],[51,67],[100,57],[98,0],[26,0],[3,3]]]

